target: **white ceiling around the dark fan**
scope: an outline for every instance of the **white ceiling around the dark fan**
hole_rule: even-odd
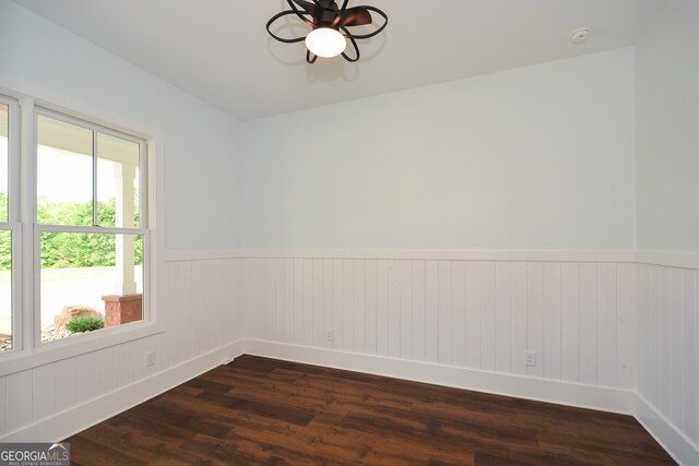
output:
[[[283,0],[14,1],[241,120],[629,46],[666,3],[353,0],[382,9],[388,27],[359,43],[357,63],[309,65],[303,43],[264,29]],[[573,46],[581,26],[592,35]]]

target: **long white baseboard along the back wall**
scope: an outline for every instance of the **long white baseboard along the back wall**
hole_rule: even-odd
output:
[[[415,382],[632,415],[636,393],[627,390],[511,375],[333,349],[246,339],[247,355],[344,369]]]

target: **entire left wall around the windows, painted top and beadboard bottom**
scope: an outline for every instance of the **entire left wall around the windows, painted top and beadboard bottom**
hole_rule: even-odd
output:
[[[152,128],[163,144],[165,195],[157,207],[165,206],[165,225],[156,228],[165,230],[166,248],[238,247],[239,122],[5,0],[0,0],[0,87]],[[151,375],[173,369],[178,378],[170,382],[181,382],[221,362],[215,354],[208,362],[213,366],[187,366],[242,335],[244,320],[234,306],[240,283],[236,262],[170,262],[157,273],[163,333],[11,373],[3,361],[0,438],[58,440],[67,429],[98,421],[100,409],[106,416],[121,406],[102,396],[138,386],[139,403],[167,387],[147,382],[157,380]],[[151,350],[156,362],[146,368]],[[79,414],[73,423],[60,417],[66,413]]]

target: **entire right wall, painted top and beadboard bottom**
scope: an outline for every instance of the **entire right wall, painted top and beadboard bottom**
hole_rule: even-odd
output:
[[[687,464],[699,461],[697,22],[699,2],[670,1],[636,53],[639,256],[682,263],[640,266],[637,390],[650,406],[641,420],[670,425],[692,445],[695,461]]]

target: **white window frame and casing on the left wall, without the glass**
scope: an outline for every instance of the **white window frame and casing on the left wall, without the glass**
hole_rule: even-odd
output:
[[[157,271],[163,267],[161,264],[163,238],[162,231],[156,232],[155,229],[156,225],[162,225],[163,220],[162,212],[158,210],[156,215],[154,208],[156,194],[159,194],[162,190],[159,178],[162,133],[114,115],[99,117],[99,111],[94,108],[90,108],[88,111],[75,110],[75,108],[82,107],[80,103],[71,101],[66,106],[58,106],[48,100],[20,95],[2,87],[0,87],[0,98],[2,103],[10,100],[15,106],[19,103],[19,118],[16,118],[17,111],[13,112],[16,118],[15,144],[13,145],[15,154],[14,165],[11,165],[9,176],[9,184],[16,194],[10,201],[14,203],[14,208],[11,204],[9,211],[14,212],[14,215],[17,216],[17,223],[13,224],[12,228],[19,231],[16,247],[13,235],[13,347],[11,350],[0,353],[0,377],[164,332],[163,315],[156,319],[156,296],[158,292],[156,277]],[[52,98],[57,99],[57,97]],[[58,115],[61,120],[78,121],[80,126],[87,126],[90,129],[96,128],[104,134],[144,142],[141,145],[141,166],[139,167],[141,170],[139,228],[85,227],[87,230],[84,230],[83,227],[37,225],[36,121],[39,113],[50,118],[56,118]],[[122,120],[126,123],[121,122]],[[10,156],[12,157],[13,154],[11,153]],[[157,195],[158,199],[161,196]],[[9,224],[2,225],[8,226]],[[40,231],[54,230],[54,227],[66,232],[143,235],[143,320],[42,344],[40,311],[38,309],[40,295],[38,275],[40,244],[38,240]],[[15,330],[17,330],[16,334]],[[15,342],[17,343],[15,344]]]

